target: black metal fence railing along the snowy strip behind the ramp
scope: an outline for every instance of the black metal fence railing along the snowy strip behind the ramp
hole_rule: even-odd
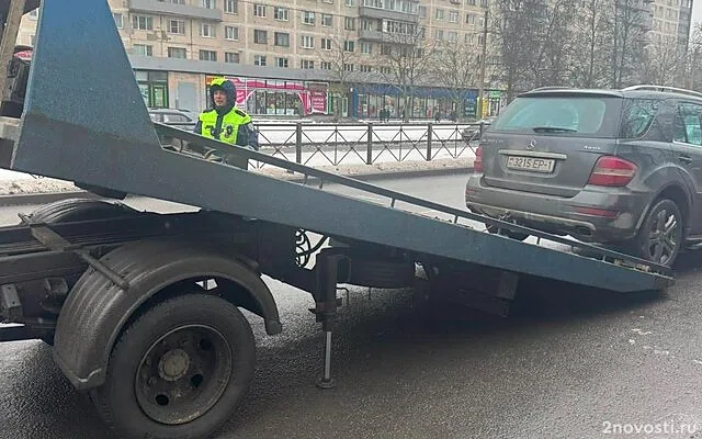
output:
[[[173,124],[190,131],[188,124]],[[473,157],[487,124],[257,123],[260,151],[305,166]],[[251,162],[261,168],[262,162]]]

